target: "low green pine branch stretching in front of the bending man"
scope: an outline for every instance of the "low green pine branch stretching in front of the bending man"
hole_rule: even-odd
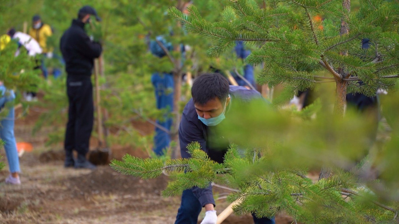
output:
[[[125,155],[123,161],[114,159],[111,167],[142,178],[158,177],[162,170],[177,171],[176,179],[162,191],[165,197],[181,194],[194,186],[207,187],[211,181],[224,183],[237,189],[228,196],[229,201],[239,201],[233,207],[237,214],[253,212],[259,217],[271,217],[284,211],[298,222],[313,223],[331,223],[336,218],[373,223],[367,220],[392,220],[396,214],[393,206],[369,199],[368,191],[354,190],[359,185],[353,173],[340,170],[336,171],[339,175],[331,179],[313,183],[303,174],[305,167],[273,169],[271,159],[258,157],[258,151],[245,149],[242,152],[237,145],[231,145],[223,164],[218,164],[209,159],[198,143],[192,143],[188,146],[190,159],[168,160],[162,164],[160,159]]]

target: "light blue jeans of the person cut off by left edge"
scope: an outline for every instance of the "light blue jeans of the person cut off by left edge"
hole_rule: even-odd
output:
[[[5,141],[4,149],[6,150],[10,172],[20,172],[20,161],[14,136],[14,107],[10,108],[8,116],[1,120],[0,138]]]

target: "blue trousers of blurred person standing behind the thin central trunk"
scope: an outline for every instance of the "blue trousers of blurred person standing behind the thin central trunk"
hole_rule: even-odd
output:
[[[154,73],[151,82],[155,88],[155,99],[157,109],[168,109],[164,114],[164,119],[156,120],[156,123],[170,131],[173,120],[170,118],[170,112],[173,110],[173,75],[168,73]],[[155,128],[154,148],[157,155],[162,155],[162,150],[168,148],[170,144],[170,134],[160,128]]]

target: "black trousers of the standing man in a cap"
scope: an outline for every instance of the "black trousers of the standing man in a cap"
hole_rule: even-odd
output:
[[[67,94],[69,109],[65,151],[68,155],[75,149],[77,153],[86,155],[94,120],[93,86],[90,77],[68,75]]]

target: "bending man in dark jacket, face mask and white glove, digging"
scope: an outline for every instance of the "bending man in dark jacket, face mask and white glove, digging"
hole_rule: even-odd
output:
[[[229,115],[235,110],[245,110],[248,108],[245,104],[252,100],[267,104],[259,92],[241,86],[229,86],[227,79],[219,73],[199,76],[193,83],[191,94],[192,99],[183,110],[179,126],[180,153],[182,158],[190,158],[187,145],[197,141],[201,150],[218,163],[223,163],[230,142],[215,126],[234,119]],[[232,107],[234,104],[236,106]],[[210,183],[205,189],[193,187],[183,191],[175,224],[196,224],[203,207],[206,212],[201,224],[216,224],[215,200]],[[252,216],[255,224],[275,224],[274,218]]]

